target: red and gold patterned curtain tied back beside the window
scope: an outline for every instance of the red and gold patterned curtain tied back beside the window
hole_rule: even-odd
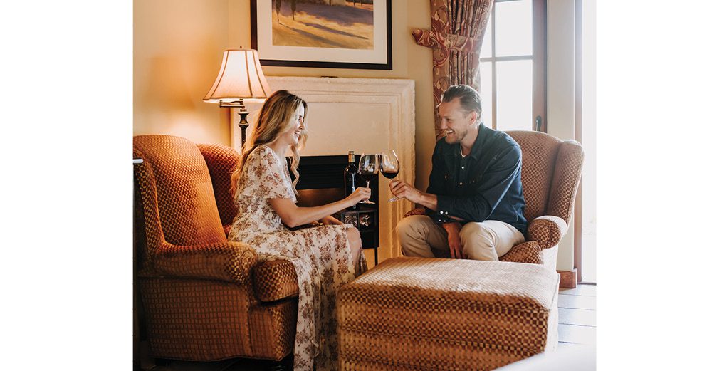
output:
[[[414,40],[434,51],[434,106],[450,85],[471,85],[480,91],[480,49],[493,0],[429,0],[431,31],[415,29]],[[434,108],[436,139],[441,137]]]

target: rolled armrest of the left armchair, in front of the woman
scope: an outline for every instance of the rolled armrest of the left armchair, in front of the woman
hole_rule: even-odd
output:
[[[198,246],[163,242],[152,261],[154,269],[166,276],[245,283],[256,263],[256,251],[241,242]]]

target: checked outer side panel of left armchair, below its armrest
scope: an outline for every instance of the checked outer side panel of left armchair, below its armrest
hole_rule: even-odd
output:
[[[211,280],[140,278],[148,339],[157,357],[252,357],[246,288]]]

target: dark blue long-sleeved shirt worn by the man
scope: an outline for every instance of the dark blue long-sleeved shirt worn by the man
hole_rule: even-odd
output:
[[[436,223],[498,220],[526,236],[522,189],[522,150],[505,132],[481,123],[471,154],[463,157],[461,145],[436,142],[426,192],[436,194],[436,211],[427,215]]]

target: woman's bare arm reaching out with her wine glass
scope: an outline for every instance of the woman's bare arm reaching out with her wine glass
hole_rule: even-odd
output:
[[[369,198],[370,188],[358,187],[349,197],[322,206],[298,207],[292,199],[268,199],[268,202],[271,203],[271,207],[273,207],[278,216],[281,216],[281,220],[286,226],[295,228],[295,226],[318,221],[325,216],[334,214],[347,207],[352,207],[363,199]]]

